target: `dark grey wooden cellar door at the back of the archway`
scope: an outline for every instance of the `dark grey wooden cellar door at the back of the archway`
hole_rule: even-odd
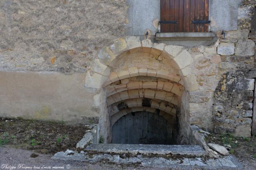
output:
[[[155,113],[129,113],[112,127],[112,143],[171,145],[172,127],[162,116]]]

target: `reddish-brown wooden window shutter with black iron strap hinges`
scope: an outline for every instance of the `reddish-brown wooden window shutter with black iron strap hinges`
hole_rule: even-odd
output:
[[[209,0],[161,0],[161,32],[208,32],[208,20]]]

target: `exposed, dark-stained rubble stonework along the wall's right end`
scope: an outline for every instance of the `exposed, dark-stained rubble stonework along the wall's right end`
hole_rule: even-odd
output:
[[[238,30],[220,37],[218,54],[222,74],[214,97],[214,131],[250,136],[255,74],[255,0],[243,0]]]

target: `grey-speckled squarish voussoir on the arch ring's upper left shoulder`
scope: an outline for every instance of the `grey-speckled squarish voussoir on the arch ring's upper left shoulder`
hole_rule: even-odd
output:
[[[109,47],[104,47],[99,51],[98,58],[102,63],[108,66],[114,59],[116,59],[116,55],[114,55]]]

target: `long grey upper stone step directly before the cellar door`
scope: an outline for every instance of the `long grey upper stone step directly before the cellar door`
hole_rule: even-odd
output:
[[[206,151],[200,145],[131,145],[131,144],[91,144],[85,151],[118,154],[158,154],[204,156]]]

